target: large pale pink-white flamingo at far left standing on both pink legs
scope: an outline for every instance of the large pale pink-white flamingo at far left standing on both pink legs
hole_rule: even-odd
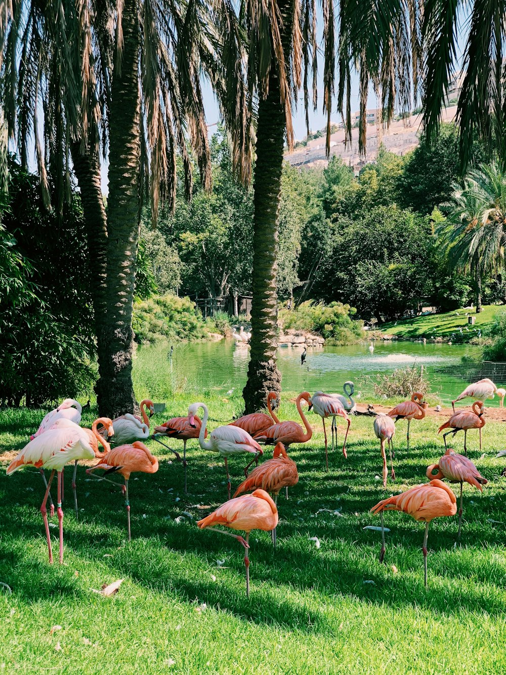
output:
[[[49,489],[55,476],[58,475],[58,503],[57,515],[59,524],[59,562],[63,562],[63,510],[61,510],[61,472],[67,462],[75,460],[92,460],[95,454],[90,445],[88,434],[84,429],[74,425],[72,421],[60,418],[55,421],[53,428],[32,439],[21,452],[12,460],[7,467],[7,476],[17,471],[22,466],[36,466],[51,469],[51,476],[47,484],[43,503],[40,505],[40,513],[46,530],[47,547],[49,549],[49,562],[53,562],[53,551],[49,537],[49,524],[47,522],[47,499]],[[53,515],[53,510],[51,510]]]

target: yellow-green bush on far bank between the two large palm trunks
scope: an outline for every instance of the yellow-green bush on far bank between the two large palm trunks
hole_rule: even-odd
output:
[[[207,331],[202,314],[190,298],[157,296],[134,304],[136,342],[202,340]]]

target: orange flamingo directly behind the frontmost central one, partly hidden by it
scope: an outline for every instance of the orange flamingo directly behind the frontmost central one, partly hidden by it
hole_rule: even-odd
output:
[[[233,496],[237,497],[243,492],[261,488],[271,493],[277,508],[277,495],[281,489],[293,487],[298,482],[297,464],[289,458],[283,443],[277,443],[273,458],[254,468],[248,478],[235,490]],[[273,546],[276,548],[276,528],[273,529]]]

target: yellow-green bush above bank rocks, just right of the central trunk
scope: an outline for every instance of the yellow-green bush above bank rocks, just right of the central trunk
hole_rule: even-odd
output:
[[[282,309],[279,312],[279,324],[284,330],[293,329],[316,333],[327,340],[330,345],[347,345],[364,339],[364,323],[354,321],[354,308],[349,304],[307,300],[293,311]]]

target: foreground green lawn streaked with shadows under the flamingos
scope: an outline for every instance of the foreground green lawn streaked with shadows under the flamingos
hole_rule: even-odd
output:
[[[185,414],[190,400],[175,398],[154,423]],[[210,429],[240,406],[238,396],[207,400]],[[242,547],[196,527],[225,501],[226,485],[221,459],[197,450],[194,441],[188,495],[181,465],[149,441],[160,468],[130,481],[131,543],[120,491],[87,479],[84,466],[76,521],[67,470],[65,559],[49,566],[38,511],[42,481],[29,469],[5,476],[7,451],[24,445],[41,416],[0,412],[0,582],[12,589],[0,588],[0,675],[506,672],[506,479],[504,458],[495,459],[505,447],[504,423],[488,421],[483,456],[478,432],[468,436],[470,456],[490,483],[482,494],[464,488],[462,546],[455,545],[457,516],[432,522],[425,591],[423,524],[385,515],[386,566],[378,563],[381,534],[364,526],[379,524],[368,512],[379,499],[425,481],[426,466],[443,454],[436,435],[441,417],[412,423],[409,455],[406,425],[398,423],[397,482],[385,491],[372,418],[353,418],[348,458],[333,454],[327,473],[321,421],[310,413],[318,431],[291,449],[300,482],[289,501],[279,497],[276,553],[269,533],[250,537],[248,601]],[[286,394],[280,417],[296,418]],[[91,421],[88,412],[83,422]],[[462,441],[457,436],[453,447],[461,450]],[[246,458],[230,464],[234,489]],[[183,512],[193,519],[176,522]],[[56,518],[51,533],[57,560]],[[310,537],[318,537],[319,549]],[[119,578],[115,597],[92,590]],[[61,630],[51,633],[52,626]]]

